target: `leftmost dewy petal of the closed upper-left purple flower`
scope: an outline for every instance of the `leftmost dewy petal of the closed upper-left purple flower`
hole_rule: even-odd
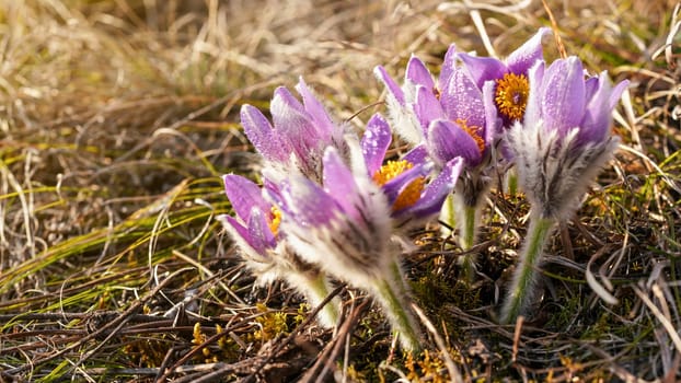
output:
[[[252,105],[241,107],[241,125],[249,141],[266,160],[284,162],[290,155],[288,141],[279,137],[261,111]]]

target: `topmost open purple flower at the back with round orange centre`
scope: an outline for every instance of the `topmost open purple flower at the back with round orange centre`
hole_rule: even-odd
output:
[[[529,97],[528,71],[536,60],[543,59],[542,39],[551,28],[541,27],[530,39],[513,50],[505,60],[493,57],[477,57],[460,53],[462,60],[478,89],[486,82],[494,83],[494,91],[488,94],[497,106],[498,114],[508,127],[512,121],[522,119]]]

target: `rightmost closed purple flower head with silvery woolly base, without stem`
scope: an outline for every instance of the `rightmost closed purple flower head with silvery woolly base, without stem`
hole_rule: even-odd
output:
[[[585,77],[577,57],[538,61],[529,72],[522,123],[506,135],[520,185],[541,217],[567,219],[591,179],[617,148],[612,111],[628,81],[612,86],[607,72]]]

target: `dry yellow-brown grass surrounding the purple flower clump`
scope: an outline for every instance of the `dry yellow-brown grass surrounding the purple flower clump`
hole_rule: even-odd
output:
[[[503,56],[549,25],[540,1],[464,3],[0,0],[0,381],[681,380],[671,1],[549,1],[567,51],[632,88],[622,150],[553,244],[531,323],[495,322],[527,209],[500,193],[476,286],[436,274],[458,254],[415,234],[424,355],[393,352],[357,291],[336,292],[332,334],[241,268],[213,220],[230,209],[219,175],[257,169],[239,106],[304,76],[351,118],[381,97],[378,63],[436,68],[450,43]]]

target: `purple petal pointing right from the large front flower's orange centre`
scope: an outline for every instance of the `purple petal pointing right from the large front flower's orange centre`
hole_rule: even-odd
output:
[[[463,161],[461,158],[447,162],[440,174],[428,184],[420,199],[412,207],[405,209],[404,213],[408,212],[418,218],[428,218],[437,214],[442,209],[442,204],[447,196],[454,189],[462,169]]]

